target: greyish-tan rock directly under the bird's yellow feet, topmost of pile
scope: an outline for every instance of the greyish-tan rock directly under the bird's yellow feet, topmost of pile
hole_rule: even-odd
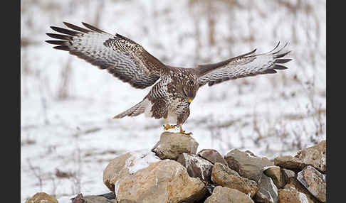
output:
[[[161,159],[177,160],[179,154],[190,153],[196,154],[198,143],[192,138],[182,133],[163,132],[159,142],[152,148]]]

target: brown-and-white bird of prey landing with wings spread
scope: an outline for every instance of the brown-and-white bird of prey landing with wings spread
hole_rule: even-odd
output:
[[[66,50],[102,70],[108,70],[132,87],[145,89],[153,85],[142,101],[114,116],[114,119],[145,114],[154,119],[165,119],[167,125],[164,125],[164,130],[179,127],[180,133],[186,135],[192,133],[185,133],[182,124],[189,117],[190,103],[204,84],[212,86],[231,79],[276,73],[276,70],[287,69],[282,64],[291,60],[282,58],[289,51],[281,53],[287,43],[278,49],[279,42],[268,53],[255,54],[255,49],[214,64],[172,67],[123,35],[112,35],[87,23],[83,23],[85,28],[63,23],[70,29],[51,26],[59,34],[46,33],[59,39],[46,40],[57,45],[53,48]]]

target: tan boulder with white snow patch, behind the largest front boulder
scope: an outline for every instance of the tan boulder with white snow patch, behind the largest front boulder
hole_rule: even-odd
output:
[[[136,150],[125,153],[110,160],[103,170],[103,183],[114,192],[114,185],[120,177],[135,173],[137,170],[146,168],[150,163],[160,159],[150,150]]]

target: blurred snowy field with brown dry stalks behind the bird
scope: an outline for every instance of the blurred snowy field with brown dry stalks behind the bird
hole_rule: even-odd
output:
[[[22,0],[21,201],[41,191],[57,198],[108,192],[108,161],[152,148],[163,131],[163,121],[144,115],[113,120],[150,88],[134,89],[54,50],[44,42],[55,33],[50,26],[90,23],[178,67],[288,42],[288,70],[202,87],[184,124],[198,150],[239,148],[273,159],[325,139],[325,8],[318,0]]]

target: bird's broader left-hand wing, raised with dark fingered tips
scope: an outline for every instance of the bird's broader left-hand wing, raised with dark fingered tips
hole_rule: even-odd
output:
[[[47,43],[58,45],[53,48],[66,50],[100,69],[108,70],[132,87],[149,87],[168,71],[162,62],[129,38],[106,33],[87,23],[83,23],[86,28],[64,24],[72,30],[51,26],[63,35],[47,33],[51,38],[59,39],[46,40]]]

